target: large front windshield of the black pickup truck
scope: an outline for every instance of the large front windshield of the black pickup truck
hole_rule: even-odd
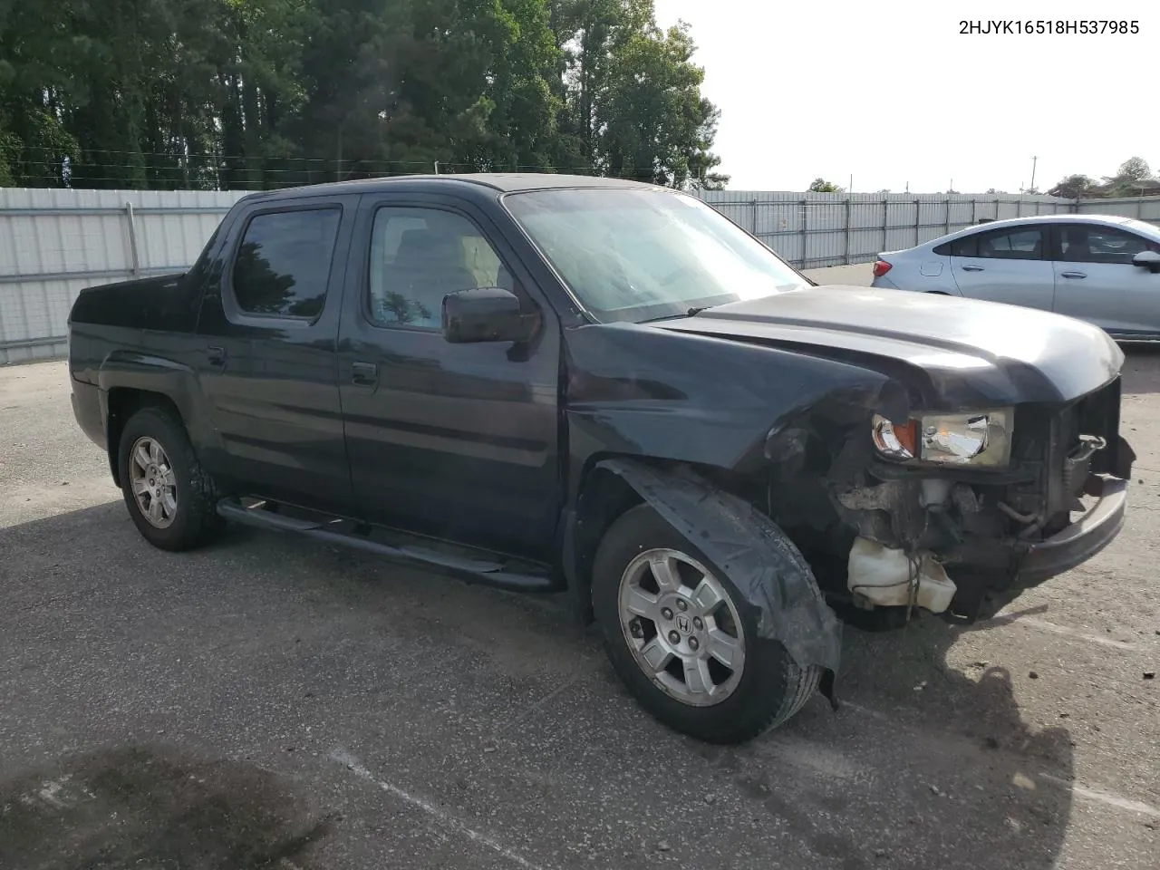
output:
[[[809,287],[699,200],[655,189],[559,189],[503,200],[597,320],[641,322]]]

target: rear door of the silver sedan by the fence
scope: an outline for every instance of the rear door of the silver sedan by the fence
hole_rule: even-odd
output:
[[[972,299],[1051,311],[1056,276],[1047,256],[1046,225],[1022,224],[955,239],[951,271]]]

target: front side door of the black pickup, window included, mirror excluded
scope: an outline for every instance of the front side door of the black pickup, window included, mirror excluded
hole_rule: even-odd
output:
[[[339,387],[360,516],[539,558],[559,517],[559,328],[467,204],[368,195],[351,242]],[[445,293],[505,287],[538,313],[527,343],[450,343]],[[529,291],[530,289],[530,291]]]

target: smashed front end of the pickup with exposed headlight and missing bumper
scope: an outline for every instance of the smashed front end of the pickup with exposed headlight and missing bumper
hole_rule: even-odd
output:
[[[1092,558],[1123,525],[1136,458],[1119,404],[1117,377],[1070,403],[875,414],[847,432],[822,476],[836,525],[797,530],[827,594],[863,624],[915,609],[970,622]]]

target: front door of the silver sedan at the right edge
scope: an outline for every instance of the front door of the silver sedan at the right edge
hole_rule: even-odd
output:
[[[1160,244],[1103,224],[1052,226],[1056,312],[1087,320],[1122,338],[1160,334],[1160,274],[1134,266]]]

